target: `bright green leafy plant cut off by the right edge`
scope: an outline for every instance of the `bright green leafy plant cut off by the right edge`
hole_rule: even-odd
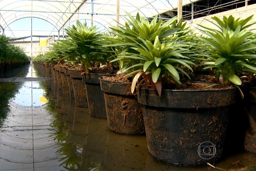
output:
[[[254,63],[250,61],[256,59],[255,32],[248,29],[254,23],[248,24],[252,16],[246,19],[234,19],[232,15],[228,18],[219,19],[212,17],[211,24],[217,26],[217,29],[208,28],[200,25],[199,29],[207,37],[201,36],[200,39],[205,43],[203,50],[207,53],[203,64],[207,65],[204,69],[213,68],[220,72],[219,82],[224,86],[230,86],[231,83],[241,85],[242,81],[237,73],[243,71],[256,73]]]

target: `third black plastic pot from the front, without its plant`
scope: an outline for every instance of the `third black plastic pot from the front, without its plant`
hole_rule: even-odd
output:
[[[107,118],[103,91],[100,88],[100,77],[114,74],[83,74],[89,106],[89,114],[96,118]]]

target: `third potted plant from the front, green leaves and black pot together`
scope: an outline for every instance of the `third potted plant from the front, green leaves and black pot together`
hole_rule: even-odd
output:
[[[103,45],[106,43],[106,35],[77,21],[76,26],[66,29],[68,40],[72,42],[70,50],[78,53],[82,67],[83,81],[85,83],[84,94],[87,95],[89,113],[93,117],[106,118],[103,92],[100,90],[99,78],[104,75],[113,76],[114,71],[107,64],[110,54]]]

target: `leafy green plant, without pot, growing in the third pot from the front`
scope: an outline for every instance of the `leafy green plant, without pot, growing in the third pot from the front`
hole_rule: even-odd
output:
[[[106,35],[97,31],[96,26],[92,28],[82,24],[77,20],[77,26],[65,29],[70,41],[68,51],[77,53],[78,60],[81,61],[81,67],[86,73],[89,73],[93,67],[98,64],[106,64],[108,53],[105,45]]]

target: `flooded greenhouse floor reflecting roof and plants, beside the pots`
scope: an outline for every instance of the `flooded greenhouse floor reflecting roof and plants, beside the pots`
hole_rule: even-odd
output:
[[[31,67],[24,70],[17,77],[37,77]],[[148,153],[145,135],[113,133],[106,119],[90,117],[46,81],[24,80],[0,82],[0,171],[256,170],[255,153],[224,157],[213,164],[218,168],[163,163]]]

